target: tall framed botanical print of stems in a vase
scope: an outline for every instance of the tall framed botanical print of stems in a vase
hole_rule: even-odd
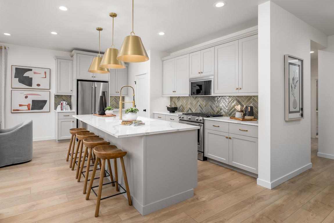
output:
[[[284,55],[285,121],[304,119],[304,59]]]

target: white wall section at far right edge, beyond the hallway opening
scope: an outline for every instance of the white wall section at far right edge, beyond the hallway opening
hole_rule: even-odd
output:
[[[325,115],[325,113],[334,110],[334,103],[332,103],[334,83],[334,35],[328,37],[328,48],[318,50],[318,61],[318,156],[334,160],[333,122],[328,121],[328,116]]]

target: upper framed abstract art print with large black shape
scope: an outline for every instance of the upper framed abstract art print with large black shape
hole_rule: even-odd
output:
[[[12,88],[50,89],[50,68],[12,65]]]

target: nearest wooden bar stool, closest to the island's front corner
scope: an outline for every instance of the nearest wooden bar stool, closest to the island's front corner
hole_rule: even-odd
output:
[[[87,195],[86,195],[86,200],[89,199],[89,195],[91,192],[91,189],[93,190],[94,194],[97,195],[97,201],[96,201],[96,209],[95,209],[95,217],[99,216],[99,209],[100,209],[100,202],[103,199],[109,198],[109,197],[113,197],[119,194],[124,194],[127,193],[128,196],[128,203],[129,205],[132,205],[132,201],[131,201],[131,196],[130,196],[130,190],[129,190],[129,185],[128,185],[128,178],[126,176],[126,172],[125,172],[125,165],[124,165],[124,160],[123,157],[127,154],[127,152],[124,152],[123,150],[118,149],[116,146],[114,145],[108,145],[108,146],[97,146],[93,149],[95,156],[97,157],[97,162],[95,162],[94,164],[94,169],[93,169],[93,173],[92,173],[92,177],[91,177],[91,181],[89,183],[89,187],[88,187],[88,191],[87,191]],[[117,174],[117,161],[116,159],[120,158],[121,160],[121,165],[122,165],[122,171],[123,171],[123,177],[124,177],[124,183],[125,183],[125,188],[126,190],[118,183],[118,174]],[[106,160],[110,160],[110,159],[114,159],[114,168],[115,168],[115,181],[114,183],[116,183],[116,191],[119,191],[118,189],[118,185],[125,191],[119,194],[115,194],[109,197],[105,197],[101,199],[101,193],[102,193],[102,185],[106,185],[103,184],[103,172],[105,169],[105,164],[106,164]],[[102,164],[101,164],[101,173],[100,173],[100,182],[99,182],[99,186],[95,186],[95,187],[99,187],[99,191],[98,194],[95,193],[94,191],[94,187],[93,186],[93,181],[94,181],[94,176],[95,176],[95,172],[98,166],[98,161],[102,160]],[[110,162],[109,164],[109,168],[110,167]],[[111,177],[111,179],[113,179]],[[113,183],[113,182],[111,182]],[[110,184],[110,183],[107,183]]]

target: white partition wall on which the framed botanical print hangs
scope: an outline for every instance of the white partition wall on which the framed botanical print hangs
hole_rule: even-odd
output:
[[[259,178],[274,188],[312,167],[310,41],[327,36],[273,2],[259,5]],[[304,59],[304,119],[285,121],[284,55]]]

